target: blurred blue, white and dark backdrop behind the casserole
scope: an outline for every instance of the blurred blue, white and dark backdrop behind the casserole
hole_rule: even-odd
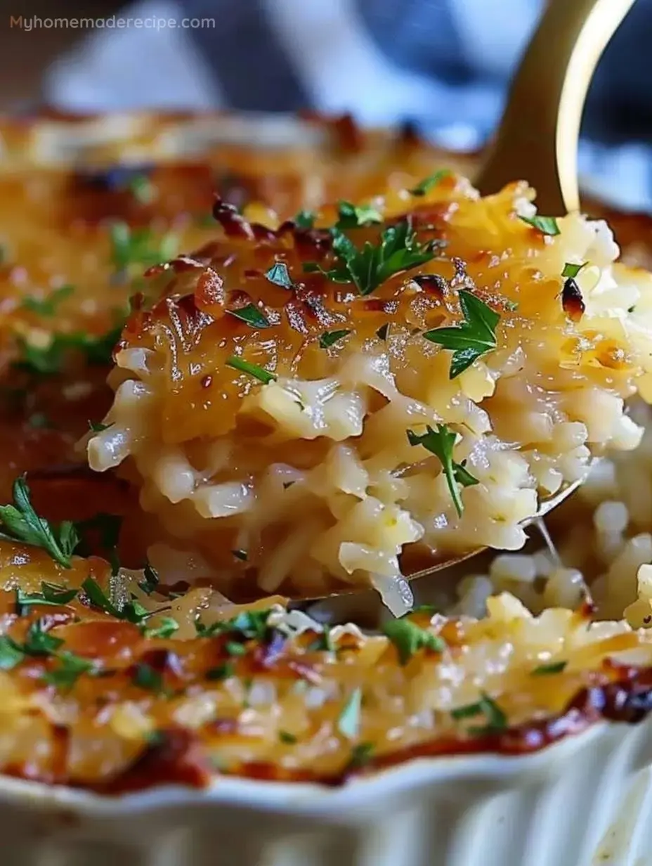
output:
[[[473,149],[500,117],[545,2],[0,0],[0,108],[312,107],[413,120]],[[652,0],[637,0],[598,69],[580,153],[595,191],[642,210],[652,205],[650,44]]]

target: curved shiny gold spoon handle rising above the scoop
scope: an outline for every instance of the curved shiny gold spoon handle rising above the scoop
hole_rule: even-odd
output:
[[[539,212],[579,209],[579,126],[604,48],[635,0],[549,0],[520,61],[494,143],[475,185],[513,180],[537,191]]]

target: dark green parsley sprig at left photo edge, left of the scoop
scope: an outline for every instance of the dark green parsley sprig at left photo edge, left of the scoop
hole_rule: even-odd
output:
[[[45,518],[39,517],[32,507],[25,475],[20,475],[14,481],[13,496],[12,505],[0,506],[0,526],[3,528],[0,538],[42,547],[55,562],[64,568],[70,568],[70,558],[80,540],[74,523],[63,520],[56,527],[50,525]]]

